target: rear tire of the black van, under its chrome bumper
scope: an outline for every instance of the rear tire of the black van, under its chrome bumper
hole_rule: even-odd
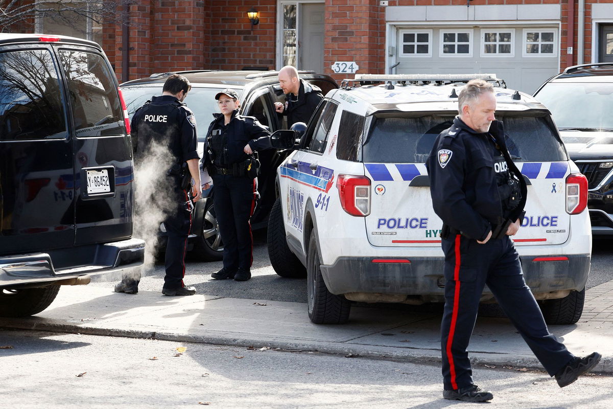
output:
[[[20,317],[37,314],[55,300],[59,286],[0,289],[0,316]]]

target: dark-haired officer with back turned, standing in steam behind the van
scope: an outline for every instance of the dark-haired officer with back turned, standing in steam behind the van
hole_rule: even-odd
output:
[[[161,96],[154,96],[151,101],[140,107],[132,117],[132,143],[135,162],[151,159],[154,147],[167,149],[172,165],[164,169],[165,180],[159,180],[159,186],[169,184],[167,191],[156,194],[168,199],[164,226],[168,234],[166,245],[166,276],[162,294],[166,296],[191,296],[196,293],[194,287],[183,283],[185,275],[185,251],[191,227],[193,202],[202,197],[200,186],[199,156],[197,153],[196,119],[183,101],[191,85],[182,75],[172,74],[164,83]],[[194,185],[190,186],[191,178]],[[205,186],[208,188],[208,186]],[[191,193],[191,197],[190,197]],[[158,198],[159,202],[164,202]],[[115,286],[116,292],[135,294],[138,292],[139,278],[124,277]]]

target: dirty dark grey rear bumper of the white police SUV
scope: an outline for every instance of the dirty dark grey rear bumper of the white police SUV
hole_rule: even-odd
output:
[[[561,256],[565,260],[523,256],[524,279],[536,298],[554,291],[581,290],[590,272],[590,254]],[[332,294],[366,292],[429,296],[443,300],[444,258],[341,257],[334,264],[321,266],[321,273]],[[492,294],[487,288],[484,294]]]

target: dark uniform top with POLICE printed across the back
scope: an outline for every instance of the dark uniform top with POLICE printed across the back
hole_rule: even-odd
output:
[[[137,160],[147,159],[143,155],[151,143],[167,145],[177,163],[199,158],[194,114],[173,96],[151,98],[134,113],[130,128]]]

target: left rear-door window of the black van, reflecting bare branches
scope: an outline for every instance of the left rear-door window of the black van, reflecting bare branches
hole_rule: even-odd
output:
[[[0,140],[65,138],[60,90],[48,50],[0,53]]]

